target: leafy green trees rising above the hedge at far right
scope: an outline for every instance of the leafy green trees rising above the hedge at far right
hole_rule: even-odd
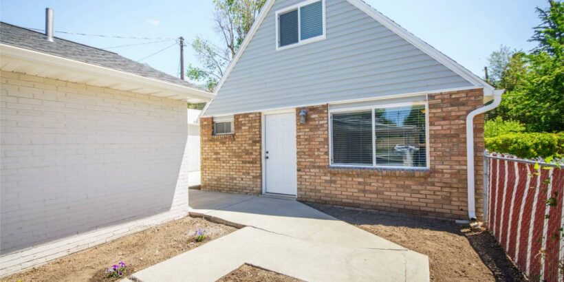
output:
[[[559,1],[549,4],[545,10],[536,9],[541,25],[534,28],[531,41],[538,46],[530,54],[512,54],[496,85],[506,94],[486,118],[515,120],[528,131],[564,130],[564,6]]]

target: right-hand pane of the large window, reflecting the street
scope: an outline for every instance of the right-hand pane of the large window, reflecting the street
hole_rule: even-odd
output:
[[[376,166],[426,166],[425,106],[374,110]]]

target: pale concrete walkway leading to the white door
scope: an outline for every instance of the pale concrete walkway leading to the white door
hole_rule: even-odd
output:
[[[191,190],[190,213],[243,228],[134,273],[216,281],[243,263],[305,281],[429,281],[429,259],[294,199]]]

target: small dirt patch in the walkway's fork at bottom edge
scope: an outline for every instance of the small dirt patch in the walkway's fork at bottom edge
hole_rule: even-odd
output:
[[[276,272],[255,268],[252,265],[243,264],[237,270],[219,279],[217,282],[300,282],[302,280],[286,276]]]

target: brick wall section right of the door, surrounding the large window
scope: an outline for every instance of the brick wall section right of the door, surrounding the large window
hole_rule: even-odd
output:
[[[296,109],[298,199],[413,213],[467,218],[466,116],[482,102],[481,89],[429,95],[430,171],[329,168],[327,105],[306,107],[306,124]],[[482,210],[484,116],[475,118],[476,207]]]

